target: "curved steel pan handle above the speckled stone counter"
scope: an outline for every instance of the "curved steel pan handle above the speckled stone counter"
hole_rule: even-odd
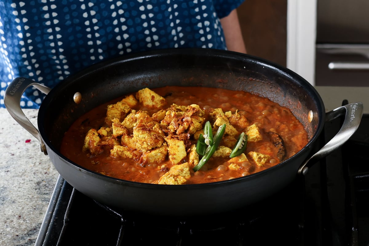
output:
[[[10,115],[18,122],[24,129],[26,129],[30,134],[32,134],[41,143],[41,151],[47,155],[46,147],[44,142],[42,142],[41,135],[38,129],[28,120],[24,112],[20,107],[20,100],[24,91],[30,87],[34,86],[42,93],[48,94],[50,88],[44,86],[43,84],[36,83],[31,79],[24,77],[15,78],[7,87],[4,94],[4,104]]]

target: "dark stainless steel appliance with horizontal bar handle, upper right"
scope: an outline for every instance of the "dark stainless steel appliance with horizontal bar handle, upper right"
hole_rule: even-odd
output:
[[[317,86],[369,86],[368,9],[366,0],[317,1]]]

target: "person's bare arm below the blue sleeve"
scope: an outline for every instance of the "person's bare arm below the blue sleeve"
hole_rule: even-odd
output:
[[[237,10],[232,10],[228,16],[221,18],[220,23],[223,27],[227,49],[229,51],[246,53],[245,42],[242,37]]]

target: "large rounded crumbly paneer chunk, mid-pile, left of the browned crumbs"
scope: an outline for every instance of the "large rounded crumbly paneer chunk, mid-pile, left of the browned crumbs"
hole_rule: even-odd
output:
[[[158,148],[164,143],[164,139],[159,132],[147,127],[135,127],[132,141],[136,142],[136,149],[142,152]]]

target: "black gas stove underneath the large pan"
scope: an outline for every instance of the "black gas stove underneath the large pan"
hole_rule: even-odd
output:
[[[341,120],[326,123],[321,146]],[[369,245],[368,124],[366,113],[349,141],[303,179],[226,214],[169,217],[111,208],[59,177],[35,245]]]

